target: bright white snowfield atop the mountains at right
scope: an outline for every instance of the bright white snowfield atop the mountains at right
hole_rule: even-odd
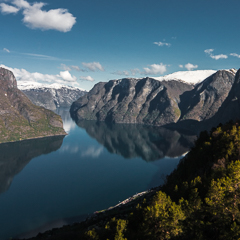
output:
[[[154,77],[154,79],[159,81],[180,80],[189,84],[197,84],[216,72],[216,70],[178,71],[162,77]]]

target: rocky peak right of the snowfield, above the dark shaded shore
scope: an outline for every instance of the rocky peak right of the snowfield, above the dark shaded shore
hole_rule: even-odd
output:
[[[182,96],[180,120],[204,121],[222,106],[235,79],[234,71],[219,70]]]

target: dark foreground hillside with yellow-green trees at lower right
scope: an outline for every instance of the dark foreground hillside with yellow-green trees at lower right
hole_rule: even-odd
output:
[[[238,123],[202,132],[160,191],[83,239],[239,239],[239,155]]]

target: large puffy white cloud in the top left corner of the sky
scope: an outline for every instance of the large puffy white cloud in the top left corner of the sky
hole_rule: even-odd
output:
[[[3,13],[16,13],[22,9],[23,22],[29,28],[41,30],[57,30],[60,32],[68,32],[76,23],[76,17],[68,12],[67,9],[58,8],[49,11],[42,10],[45,3],[35,2],[28,3],[25,0],[14,0],[11,5],[1,4],[1,11]],[[6,12],[8,10],[8,12]]]

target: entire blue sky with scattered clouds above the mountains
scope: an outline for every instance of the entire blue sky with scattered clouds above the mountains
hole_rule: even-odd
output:
[[[239,0],[0,0],[0,65],[18,80],[99,81],[240,67]]]

